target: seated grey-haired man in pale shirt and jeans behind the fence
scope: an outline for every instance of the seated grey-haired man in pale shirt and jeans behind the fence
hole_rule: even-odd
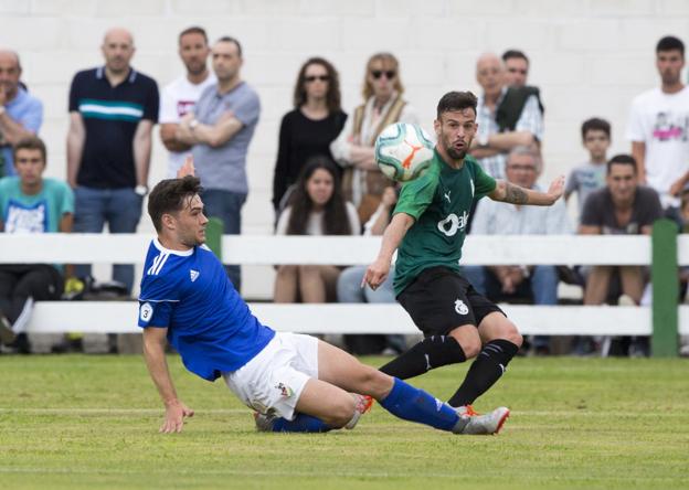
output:
[[[540,190],[536,180],[541,158],[536,147],[516,147],[507,160],[507,180]],[[481,200],[476,207],[471,235],[565,235],[571,233],[562,201],[552,206],[522,206]],[[466,266],[465,277],[491,301],[527,299],[536,305],[558,303],[558,270],[551,265]],[[537,337],[537,353],[548,353],[548,337]]]

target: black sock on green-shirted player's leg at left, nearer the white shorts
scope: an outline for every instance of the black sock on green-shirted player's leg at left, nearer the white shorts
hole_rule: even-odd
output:
[[[427,337],[380,370],[391,376],[406,380],[445,364],[466,361],[459,342],[449,335]]]

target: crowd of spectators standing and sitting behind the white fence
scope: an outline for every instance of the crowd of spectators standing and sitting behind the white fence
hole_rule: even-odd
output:
[[[3,233],[134,233],[148,193],[153,127],[168,150],[173,178],[193,157],[204,188],[205,213],[227,234],[242,232],[250,192],[247,150],[259,130],[261,99],[242,77],[240,40],[210,42],[200,26],[183,30],[178,52],[184,72],[159,92],[158,83],[131,64],[132,34],[110,29],[100,46],[104,63],[76,73],[68,93],[66,175],[43,178],[50,151],[40,139],[43,104],[22,79],[19,53],[0,50],[0,231]],[[689,231],[689,88],[681,81],[685,45],[665,36],[656,45],[659,84],[630,104],[627,153],[608,156],[611,121],[591,115],[581,138],[589,157],[572,166],[565,199],[576,201],[576,223],[565,203],[552,207],[495,205],[480,201],[470,234],[649,234],[666,216]],[[210,58],[210,62],[209,62]],[[496,179],[538,189],[545,104],[529,84],[530,61],[519,50],[476,61],[478,131],[470,156]],[[372,54],[363,66],[361,99],[341,106],[339,73],[320,56],[299,67],[293,109],[276,135],[278,149],[272,204],[280,235],[381,235],[399,194],[379,171],[373,143],[390,124],[420,124],[406,99],[402,66],[392,53]],[[241,288],[237,265],[226,266]],[[555,267],[515,264],[465,267],[475,288],[494,301],[556,305],[561,281],[583,288],[584,305],[639,305],[648,297],[644,267]],[[52,264],[0,265],[2,351],[30,352],[24,326],[33,301],[56,299],[91,284],[91,267]],[[394,302],[392,276],[373,291],[360,287],[362,267],[282,265],[276,267],[276,302]],[[689,274],[680,271],[686,291]],[[113,266],[113,281],[131,294],[134,267]],[[354,353],[400,353],[400,335],[349,335]],[[625,353],[647,354],[644,339],[621,343]],[[551,340],[531,339],[536,354]],[[608,339],[577,339],[573,352],[611,349]],[[0,352],[2,352],[0,351]]]

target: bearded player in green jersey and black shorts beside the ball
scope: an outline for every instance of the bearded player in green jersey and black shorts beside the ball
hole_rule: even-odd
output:
[[[395,295],[425,338],[381,371],[405,380],[476,358],[448,401],[467,415],[475,414],[471,404],[498,381],[522,341],[502,310],[460,275],[471,203],[487,195],[512,204],[552,205],[564,188],[564,177],[548,192],[537,192],[485,173],[467,153],[478,128],[476,104],[470,92],[441,98],[433,163],[402,188],[378,258],[363,277],[371,288],[380,286],[398,251]]]

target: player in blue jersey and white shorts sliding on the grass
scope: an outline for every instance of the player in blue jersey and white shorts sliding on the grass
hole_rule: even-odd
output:
[[[204,245],[208,219],[193,163],[188,161],[178,175],[159,182],[149,195],[148,213],[158,236],[148,248],[139,297],[144,355],[166,408],[160,432],[180,432],[184,418],[193,415],[174,390],[166,341],[192,373],[211,382],[222,376],[257,412],[259,430],[352,428],[364,412],[361,395],[375,398],[400,418],[441,430],[500,429],[507,408],[481,416],[458,414],[315,337],[275,332],[262,324]]]

